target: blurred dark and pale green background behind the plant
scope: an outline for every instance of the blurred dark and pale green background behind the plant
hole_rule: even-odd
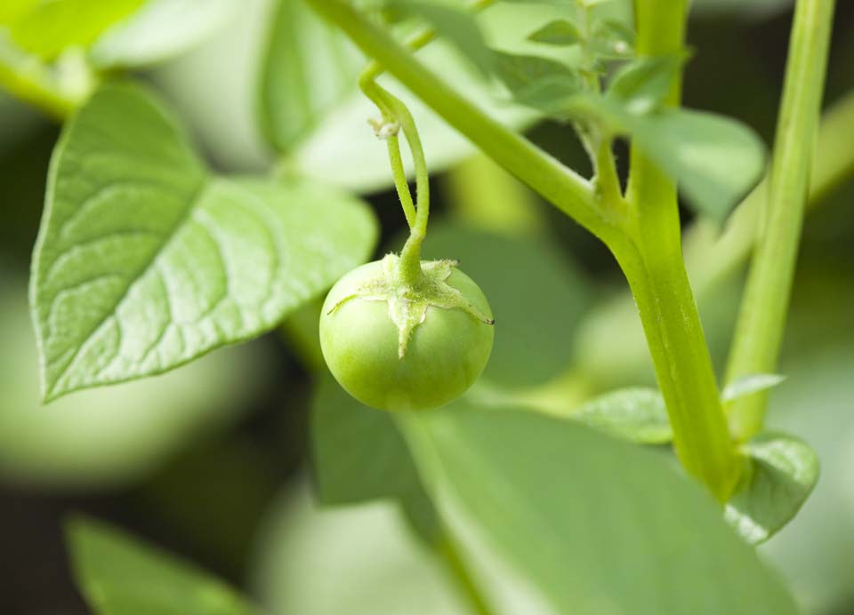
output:
[[[854,4],[838,4],[826,106],[854,90]],[[224,172],[268,164],[254,128],[252,92],[271,10],[270,2],[247,0],[227,28],[139,73],[173,103],[198,147]],[[686,104],[734,116],[769,142],[790,20],[785,1],[696,2]],[[51,120],[0,92],[0,612],[87,612],[72,585],[61,536],[70,511],[109,520],[184,555],[274,613],[382,615],[414,612],[406,606],[413,603],[421,605],[418,612],[458,612],[448,579],[391,505],[319,511],[312,502],[308,412],[314,377],[299,342],[312,334],[310,310],[294,316],[284,334],[218,350],[165,376],[68,395],[47,406],[38,402],[28,261],[58,133]],[[584,170],[583,152],[567,126],[538,125],[529,135]],[[344,154],[336,164],[349,164],[346,144],[326,140],[315,149],[338,146]],[[625,157],[620,152],[621,161]],[[355,162],[339,168],[344,183],[378,183]],[[387,169],[373,172],[383,178]],[[482,160],[455,164],[432,181],[436,214],[427,251],[461,257],[512,331],[499,340],[505,347],[487,378],[528,385],[558,375],[573,358],[574,342],[581,343],[576,333],[591,310],[624,292],[615,263],[582,229]],[[390,191],[367,196],[383,223],[381,248],[394,245],[404,222],[396,197]],[[503,198],[512,206],[484,220],[484,208]],[[520,254],[525,267],[490,279],[488,269],[478,271],[486,254]],[[761,547],[810,615],[854,613],[852,283],[854,180],[848,180],[807,221],[781,369],[788,379],[772,395],[769,414],[772,427],[801,435],[822,461],[818,488],[801,514]],[[735,272],[701,306],[719,362],[738,284]],[[508,292],[519,288],[524,292]],[[558,336],[538,325],[558,318],[565,324]],[[626,342],[622,331],[596,339],[613,346],[604,349],[606,356],[632,366],[617,370],[608,385],[649,382],[640,343]],[[532,347],[530,373],[502,363],[503,356]]]

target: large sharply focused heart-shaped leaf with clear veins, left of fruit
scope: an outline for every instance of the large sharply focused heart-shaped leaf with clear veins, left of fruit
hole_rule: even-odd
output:
[[[107,86],[52,158],[30,289],[44,397],[259,335],[375,236],[367,207],[335,190],[209,176],[146,92]]]

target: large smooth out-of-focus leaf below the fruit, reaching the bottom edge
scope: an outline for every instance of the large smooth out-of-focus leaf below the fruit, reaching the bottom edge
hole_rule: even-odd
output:
[[[652,451],[572,421],[463,404],[408,416],[407,439],[481,587],[486,552],[544,612],[797,612],[716,503]]]

